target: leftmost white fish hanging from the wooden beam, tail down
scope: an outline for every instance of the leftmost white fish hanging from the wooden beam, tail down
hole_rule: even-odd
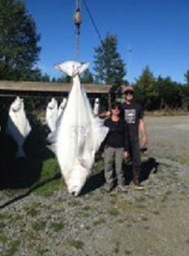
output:
[[[9,117],[7,121],[6,134],[10,135],[18,146],[16,157],[25,157],[23,143],[29,135],[31,127],[24,111],[23,99],[16,96],[10,105]]]

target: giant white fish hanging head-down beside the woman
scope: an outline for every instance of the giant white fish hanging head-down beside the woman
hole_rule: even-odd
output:
[[[108,134],[103,121],[95,118],[79,75],[88,69],[88,63],[63,62],[55,66],[72,76],[73,85],[60,125],[57,128],[56,156],[68,187],[68,193],[81,193],[91,174],[95,153]]]

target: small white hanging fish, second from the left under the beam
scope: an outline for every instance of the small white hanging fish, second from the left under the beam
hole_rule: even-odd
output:
[[[46,122],[51,132],[55,131],[58,118],[58,102],[52,98],[46,108]]]

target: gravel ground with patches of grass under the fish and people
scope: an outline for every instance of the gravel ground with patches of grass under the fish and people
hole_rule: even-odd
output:
[[[83,193],[60,186],[0,194],[1,256],[187,256],[189,252],[189,116],[146,117],[144,191],[105,193],[95,168]],[[131,167],[126,170],[129,179]],[[44,185],[45,186],[45,185]]]

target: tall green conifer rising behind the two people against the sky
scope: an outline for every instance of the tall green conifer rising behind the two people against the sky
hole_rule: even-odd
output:
[[[117,50],[117,37],[108,35],[95,48],[95,81],[121,86],[126,75],[125,63]]]

